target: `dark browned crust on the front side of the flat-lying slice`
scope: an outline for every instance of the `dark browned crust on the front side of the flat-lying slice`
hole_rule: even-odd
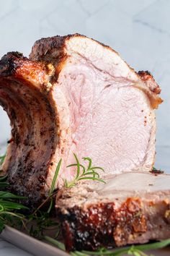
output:
[[[115,199],[115,202],[86,205],[81,208],[74,206],[63,210],[60,208],[60,199],[58,200],[56,210],[62,223],[63,239],[68,251],[119,247],[148,242],[149,239],[166,239],[170,235],[170,220],[166,214],[169,201],[143,202],[140,197],[130,197],[125,199],[119,208],[115,206],[118,200]],[[146,208],[149,209],[148,212]],[[155,210],[156,208],[160,210]],[[164,230],[166,233],[163,237]],[[145,234],[148,234],[146,240]]]

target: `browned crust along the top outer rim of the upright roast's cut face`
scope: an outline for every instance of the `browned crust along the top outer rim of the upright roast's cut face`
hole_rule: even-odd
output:
[[[53,37],[42,38],[40,40],[37,40],[34,46],[32,46],[30,59],[34,61],[45,61],[47,63],[53,63],[56,69],[55,77],[57,78],[67,58],[66,54],[64,53],[66,40],[69,40],[70,38],[75,38],[75,37],[86,38],[85,35],[76,33],[73,35],[65,35],[65,36],[56,35]],[[93,38],[90,38],[90,39],[94,40]],[[97,40],[94,40],[94,41],[104,46],[104,48],[107,48],[109,51],[112,51],[118,56],[120,56],[120,54],[118,54],[117,51],[115,51],[111,47],[106,46],[104,45],[104,43],[100,43]],[[152,93],[155,93],[156,95],[161,93],[161,88],[158,86],[158,84],[156,83],[156,81],[154,80],[150,72],[148,71],[135,72],[135,70],[131,68],[129,65],[128,67],[132,72],[134,72],[139,77],[139,79],[143,80],[143,82],[146,83],[146,85],[148,86],[148,88],[151,90]],[[153,102],[151,95],[149,96],[149,98],[153,103],[153,108],[158,108],[158,104],[162,103],[161,98],[157,98],[156,102]]]

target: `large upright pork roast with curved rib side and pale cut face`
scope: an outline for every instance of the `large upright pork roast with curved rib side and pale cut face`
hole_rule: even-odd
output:
[[[138,75],[120,56],[82,35],[43,38],[30,59],[9,53],[0,61],[0,103],[12,125],[2,169],[14,191],[32,203],[75,176],[73,153],[104,168],[102,177],[151,171],[154,108],[161,103],[151,74]],[[157,89],[156,89],[157,88]]]

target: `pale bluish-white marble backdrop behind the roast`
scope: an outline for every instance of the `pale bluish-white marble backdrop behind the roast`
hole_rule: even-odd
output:
[[[7,51],[28,56],[35,40],[69,33],[112,46],[131,67],[154,75],[164,98],[156,111],[156,166],[170,173],[170,1],[0,0],[0,57]],[[0,109],[1,147],[9,134]]]

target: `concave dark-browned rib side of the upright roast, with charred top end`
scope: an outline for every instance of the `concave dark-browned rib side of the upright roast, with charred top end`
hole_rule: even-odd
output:
[[[12,189],[35,205],[45,196],[50,158],[59,143],[56,110],[50,106],[44,85],[48,75],[43,65],[12,54],[1,61],[0,70],[1,104],[12,125],[3,171]]]

